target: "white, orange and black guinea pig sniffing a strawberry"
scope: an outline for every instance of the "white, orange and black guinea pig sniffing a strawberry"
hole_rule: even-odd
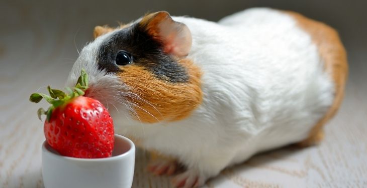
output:
[[[89,75],[116,132],[154,151],[148,169],[201,186],[257,152],[323,138],[347,77],[329,26],[287,11],[248,9],[219,22],[147,14],[98,26],[69,74]],[[139,162],[139,161],[137,161]]]

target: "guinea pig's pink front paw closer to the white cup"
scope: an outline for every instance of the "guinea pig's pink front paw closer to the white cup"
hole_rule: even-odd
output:
[[[155,175],[172,175],[178,169],[178,163],[174,159],[155,159],[148,164],[148,171]]]

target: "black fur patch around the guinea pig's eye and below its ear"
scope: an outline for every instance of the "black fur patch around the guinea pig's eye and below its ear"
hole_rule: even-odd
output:
[[[97,57],[99,69],[107,72],[124,71],[116,64],[116,55],[120,50],[130,53],[133,64],[152,72],[157,78],[173,83],[189,80],[185,67],[178,64],[171,55],[162,51],[162,43],[148,35],[143,26],[134,24],[114,34],[100,47]],[[137,75],[138,76],[138,75]]]

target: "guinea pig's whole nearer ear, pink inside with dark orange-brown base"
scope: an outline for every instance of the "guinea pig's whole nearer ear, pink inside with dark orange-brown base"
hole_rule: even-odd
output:
[[[163,43],[164,52],[177,57],[189,54],[192,45],[189,28],[185,24],[173,21],[167,12],[146,15],[139,25],[144,27],[149,35]]]

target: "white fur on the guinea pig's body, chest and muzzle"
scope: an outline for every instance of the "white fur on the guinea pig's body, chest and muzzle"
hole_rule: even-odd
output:
[[[141,139],[147,149],[177,157],[208,178],[259,151],[305,139],[332,104],[333,83],[317,47],[292,17],[257,8],[219,23],[172,18],[192,33],[188,57],[204,73],[204,99],[189,118],[154,125],[131,119],[124,105],[120,112],[110,108],[116,132]],[[70,83],[82,66],[95,77],[91,82],[106,77],[94,58],[110,35],[83,49]],[[114,79],[97,82],[126,87]]]

